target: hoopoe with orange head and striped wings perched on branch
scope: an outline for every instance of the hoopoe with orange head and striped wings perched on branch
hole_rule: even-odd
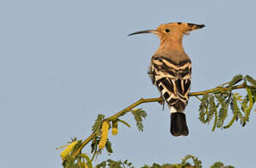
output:
[[[160,46],[151,58],[148,75],[170,108],[170,133],[173,136],[189,134],[185,108],[189,100],[192,63],[182,46],[182,38],[189,31],[205,25],[193,23],[161,24],[156,30],[137,31],[129,34],[157,34]]]

